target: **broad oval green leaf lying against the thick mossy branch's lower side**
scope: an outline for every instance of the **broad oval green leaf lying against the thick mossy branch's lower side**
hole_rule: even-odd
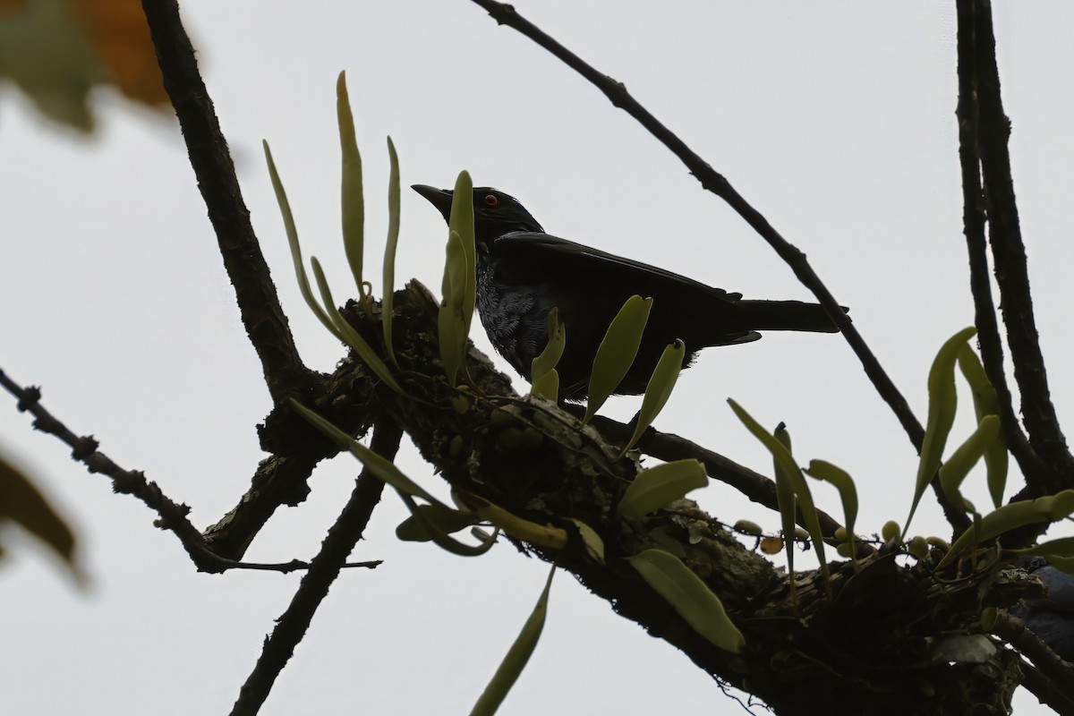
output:
[[[644,550],[626,560],[694,631],[731,654],[745,646],[720,597],[678,557],[664,550]]]

